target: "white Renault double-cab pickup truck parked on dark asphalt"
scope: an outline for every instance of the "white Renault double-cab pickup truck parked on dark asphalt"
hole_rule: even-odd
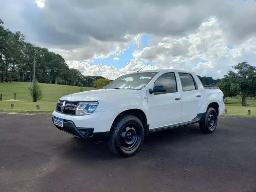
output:
[[[214,132],[224,109],[223,92],[203,86],[194,72],[147,70],[61,97],[52,121],[75,137],[106,139],[113,153],[129,157],[155,131],[199,123],[203,133]]]

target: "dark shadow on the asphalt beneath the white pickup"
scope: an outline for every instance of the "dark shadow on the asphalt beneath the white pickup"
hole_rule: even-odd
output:
[[[197,140],[197,137],[202,136],[203,134],[201,133],[198,124],[151,133],[145,138],[143,145],[136,156],[141,157],[141,155],[143,156],[143,153],[150,155],[152,150],[157,151],[163,146],[168,145],[175,147],[179,145],[178,143],[180,142],[188,139]],[[95,143],[72,137],[68,142],[63,143],[61,148],[63,149],[60,149],[63,156],[77,161],[120,159],[120,157],[111,153],[106,141]]]

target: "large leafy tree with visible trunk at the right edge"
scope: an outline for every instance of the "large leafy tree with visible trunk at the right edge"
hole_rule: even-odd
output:
[[[247,106],[247,97],[255,97],[256,93],[256,67],[247,64],[247,62],[242,62],[232,66],[232,68],[237,72],[229,70],[224,75],[225,81],[229,83],[224,89],[230,85],[231,92],[233,91],[234,94],[241,93],[242,106]]]

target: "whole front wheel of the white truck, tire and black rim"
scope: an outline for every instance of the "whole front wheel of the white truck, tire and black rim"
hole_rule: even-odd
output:
[[[143,124],[137,117],[122,115],[111,127],[108,147],[116,155],[131,157],[139,151],[144,136]]]

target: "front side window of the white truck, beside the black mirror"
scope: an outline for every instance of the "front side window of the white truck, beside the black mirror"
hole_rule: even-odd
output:
[[[155,85],[164,85],[166,87],[166,92],[154,93],[155,95],[177,92],[177,84],[174,73],[165,73],[161,75],[155,81],[154,86]]]

